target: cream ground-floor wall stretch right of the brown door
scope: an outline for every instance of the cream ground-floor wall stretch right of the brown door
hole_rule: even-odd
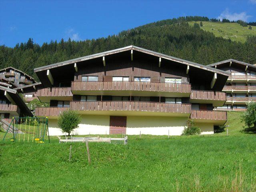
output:
[[[126,134],[181,135],[186,126],[186,117],[128,116]]]

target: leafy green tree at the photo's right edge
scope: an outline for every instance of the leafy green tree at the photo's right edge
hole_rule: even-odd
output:
[[[242,114],[241,119],[249,128],[256,127],[256,102],[247,104],[247,110]]]

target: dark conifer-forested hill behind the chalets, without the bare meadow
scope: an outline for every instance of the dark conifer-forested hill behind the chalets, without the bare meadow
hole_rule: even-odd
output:
[[[256,63],[256,36],[248,37],[244,43],[234,42],[202,30],[199,24],[189,26],[188,21],[191,18],[162,20],[107,38],[79,42],[62,39],[39,46],[29,39],[14,48],[0,46],[0,68],[12,66],[36,78],[36,67],[128,45],[205,65],[229,58]]]

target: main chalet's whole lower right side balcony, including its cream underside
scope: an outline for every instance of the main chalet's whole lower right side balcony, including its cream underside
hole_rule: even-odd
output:
[[[190,118],[194,122],[209,122],[214,125],[224,125],[227,120],[227,112],[217,110],[191,110]]]

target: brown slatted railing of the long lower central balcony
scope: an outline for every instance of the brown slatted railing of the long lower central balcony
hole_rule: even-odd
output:
[[[76,111],[140,111],[190,114],[190,104],[172,104],[135,101],[70,102]]]

